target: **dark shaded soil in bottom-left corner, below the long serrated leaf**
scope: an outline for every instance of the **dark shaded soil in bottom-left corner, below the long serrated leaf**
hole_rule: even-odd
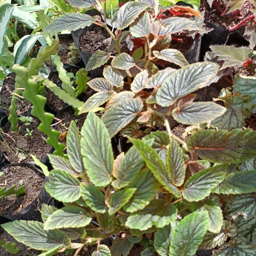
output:
[[[11,235],[9,235],[6,231],[1,234],[0,239],[3,241],[10,241],[12,243],[16,243],[17,247],[20,248],[20,252],[18,254],[14,254],[15,256],[34,256],[37,255],[37,251],[31,248],[28,248],[26,245],[17,242]],[[0,255],[1,256],[10,256],[12,255],[9,252],[5,252],[4,248],[0,247]]]

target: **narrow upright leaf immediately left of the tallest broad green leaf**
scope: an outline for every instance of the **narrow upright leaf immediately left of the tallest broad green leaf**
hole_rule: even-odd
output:
[[[80,136],[76,123],[72,120],[67,134],[67,153],[68,159],[76,172],[81,173],[84,171],[83,158],[80,147]]]

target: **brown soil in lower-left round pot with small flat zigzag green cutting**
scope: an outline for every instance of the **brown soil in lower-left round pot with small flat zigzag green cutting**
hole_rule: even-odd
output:
[[[0,176],[0,188],[10,188],[17,184],[16,188],[26,185],[25,194],[15,197],[6,196],[1,200],[1,215],[17,214],[21,209],[30,204],[38,195],[44,182],[44,175],[28,166],[11,166],[3,170]],[[2,255],[2,254],[1,254]]]

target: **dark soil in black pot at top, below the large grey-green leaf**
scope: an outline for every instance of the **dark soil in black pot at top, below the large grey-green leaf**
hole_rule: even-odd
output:
[[[110,43],[110,36],[105,28],[97,27],[92,31],[87,31],[85,35],[81,36],[79,47],[88,53],[105,51],[108,52]],[[120,44],[121,52],[127,52],[125,43]],[[111,54],[116,54],[114,49]]]

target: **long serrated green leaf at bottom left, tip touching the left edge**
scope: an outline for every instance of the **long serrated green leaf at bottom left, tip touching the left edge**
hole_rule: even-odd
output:
[[[59,230],[44,230],[44,224],[38,221],[15,220],[2,224],[2,227],[18,242],[36,250],[51,250],[56,246],[70,243]]]

